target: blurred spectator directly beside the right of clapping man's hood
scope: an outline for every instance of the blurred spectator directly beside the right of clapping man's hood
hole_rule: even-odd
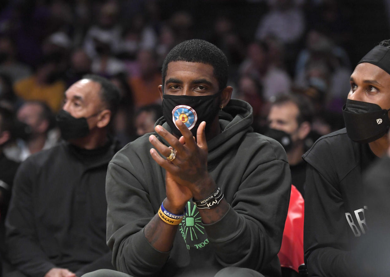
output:
[[[237,98],[248,102],[253,108],[253,128],[255,132],[262,133],[266,126],[269,107],[264,100],[263,88],[260,81],[251,75],[243,75],[238,82]]]

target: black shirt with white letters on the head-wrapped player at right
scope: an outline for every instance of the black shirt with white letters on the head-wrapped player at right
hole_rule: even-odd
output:
[[[362,172],[375,157],[368,144],[349,139],[345,128],[321,137],[303,155],[309,276],[358,276],[353,250],[368,231]]]

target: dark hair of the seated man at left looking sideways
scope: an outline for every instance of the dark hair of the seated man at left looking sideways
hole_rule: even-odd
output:
[[[111,111],[112,114],[111,119],[112,119],[118,110],[119,101],[121,98],[119,94],[119,89],[108,79],[99,75],[87,74],[83,76],[83,79],[88,79],[100,84],[101,100],[107,105],[107,109]]]

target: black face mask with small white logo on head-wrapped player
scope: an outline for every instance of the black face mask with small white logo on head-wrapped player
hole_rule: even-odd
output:
[[[379,105],[347,99],[342,108],[348,137],[360,143],[383,137],[390,127],[388,110]]]

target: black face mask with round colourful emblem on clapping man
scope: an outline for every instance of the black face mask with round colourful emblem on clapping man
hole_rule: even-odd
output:
[[[163,115],[172,133],[182,135],[176,127],[176,119],[180,119],[196,137],[196,131],[202,121],[206,121],[206,132],[218,114],[219,107],[215,99],[220,95],[216,93],[206,96],[163,95]]]

